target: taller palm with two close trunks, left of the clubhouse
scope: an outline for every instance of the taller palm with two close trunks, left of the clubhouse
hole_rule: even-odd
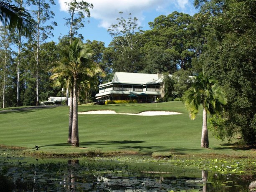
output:
[[[64,57],[63,61],[58,62],[58,66],[56,66],[52,72],[52,79],[57,77],[65,77],[70,85],[72,84],[72,86],[68,86],[71,88],[71,90],[73,90],[73,92],[70,92],[72,92],[71,95],[74,96],[73,104],[71,106],[72,119],[69,121],[70,124],[72,124],[71,145],[78,147],[78,90],[79,88],[89,88],[90,82],[94,80],[94,77],[104,76],[104,73],[99,65],[94,63],[92,60],[91,49],[79,40],[75,40],[73,43],[71,43],[69,51],[66,52],[66,56]]]

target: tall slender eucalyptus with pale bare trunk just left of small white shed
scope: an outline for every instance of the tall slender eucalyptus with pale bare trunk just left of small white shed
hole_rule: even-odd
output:
[[[51,22],[51,25],[46,25],[48,20],[54,18],[54,12],[50,10],[50,5],[55,5],[54,0],[49,0],[49,3],[46,0],[29,0],[29,5],[36,7],[33,10],[33,14],[36,17],[36,105],[39,105],[39,76],[38,76],[38,66],[40,62],[40,45],[42,41],[46,40],[48,37],[53,36],[52,30],[53,27],[57,25],[56,22]]]

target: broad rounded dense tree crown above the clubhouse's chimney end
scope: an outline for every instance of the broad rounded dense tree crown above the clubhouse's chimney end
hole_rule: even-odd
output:
[[[160,15],[149,23],[151,30],[145,32],[148,42],[144,51],[151,47],[161,47],[172,56],[177,68],[187,70],[191,67],[192,58],[196,53],[195,38],[198,25],[194,18],[177,11],[165,16]]]

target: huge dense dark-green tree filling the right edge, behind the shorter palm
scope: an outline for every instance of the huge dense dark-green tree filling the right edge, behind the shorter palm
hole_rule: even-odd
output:
[[[215,37],[195,60],[224,87],[228,105],[224,118],[212,119],[220,139],[256,142],[256,3],[251,0],[196,0],[198,19],[214,28]]]

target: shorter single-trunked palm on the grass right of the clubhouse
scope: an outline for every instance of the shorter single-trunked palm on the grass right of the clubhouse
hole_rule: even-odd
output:
[[[210,115],[221,114],[223,105],[227,104],[225,91],[218,85],[218,81],[205,76],[201,72],[193,85],[182,96],[183,103],[189,111],[190,119],[195,119],[200,104],[203,105],[203,129],[201,147],[209,147],[207,113]]]

